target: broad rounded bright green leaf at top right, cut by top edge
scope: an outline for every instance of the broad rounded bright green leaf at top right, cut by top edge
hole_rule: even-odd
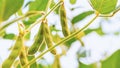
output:
[[[96,11],[101,14],[109,14],[115,10],[118,0],[90,0]]]

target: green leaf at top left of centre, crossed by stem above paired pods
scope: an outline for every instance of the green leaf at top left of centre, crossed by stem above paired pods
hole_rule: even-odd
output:
[[[29,11],[45,11],[49,0],[35,0],[29,3]],[[29,26],[38,19],[40,15],[30,17],[29,20],[24,21],[25,26]]]

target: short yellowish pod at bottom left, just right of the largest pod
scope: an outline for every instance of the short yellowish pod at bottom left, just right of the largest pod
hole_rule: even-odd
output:
[[[20,58],[21,66],[24,66],[25,64],[28,64],[27,53],[26,53],[26,50],[25,50],[24,46],[22,47],[22,51],[19,55],[19,58]],[[26,68],[29,68],[29,66],[26,67]]]

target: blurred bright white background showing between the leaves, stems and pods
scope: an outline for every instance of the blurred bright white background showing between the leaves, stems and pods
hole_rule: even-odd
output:
[[[24,5],[29,1],[30,0],[25,0]],[[58,0],[54,0],[54,2],[57,3]],[[118,5],[120,5],[120,0],[118,0],[117,6]],[[71,20],[73,17],[82,12],[93,10],[88,0],[77,0],[75,4],[71,4],[69,0],[65,0],[65,8],[70,29],[72,26]],[[27,11],[28,7],[23,7],[22,12],[26,13]],[[14,19],[15,17],[16,15],[13,15],[9,20]],[[93,17],[94,14],[84,18],[83,20],[74,24],[74,27],[76,29],[82,28]],[[54,25],[55,29],[61,30],[58,14],[52,12],[47,18],[49,21],[49,26]],[[18,35],[17,28],[17,23],[14,23],[7,27],[6,33]],[[39,25],[36,25],[32,28],[30,39],[25,42],[26,46],[31,46],[38,28]],[[116,13],[113,17],[97,18],[87,29],[91,29],[91,32],[81,38],[84,46],[80,43],[80,41],[76,40],[72,42],[72,44],[69,46],[69,49],[63,47],[67,49],[67,52],[60,58],[61,68],[78,68],[78,61],[84,64],[92,64],[97,62],[99,67],[99,61],[104,60],[106,57],[109,57],[115,51],[120,49],[120,12]],[[52,31],[52,34],[55,35],[56,32]],[[57,32],[57,34],[62,38],[64,37],[61,31]],[[0,38],[0,64],[9,56],[9,48],[14,44],[14,42],[15,40]],[[58,53],[62,52],[60,46],[56,48]],[[36,54],[36,56],[37,55],[38,54]],[[54,56],[51,53],[47,53],[44,55],[44,60],[41,59],[38,62],[43,65],[51,65],[54,62]]]

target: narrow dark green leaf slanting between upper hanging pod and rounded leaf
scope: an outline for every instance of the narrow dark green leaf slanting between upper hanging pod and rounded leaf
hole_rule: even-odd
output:
[[[81,20],[83,20],[84,18],[86,18],[87,16],[93,14],[94,11],[86,11],[86,12],[83,12],[77,16],[75,16],[73,19],[72,19],[72,24],[75,24]]]

